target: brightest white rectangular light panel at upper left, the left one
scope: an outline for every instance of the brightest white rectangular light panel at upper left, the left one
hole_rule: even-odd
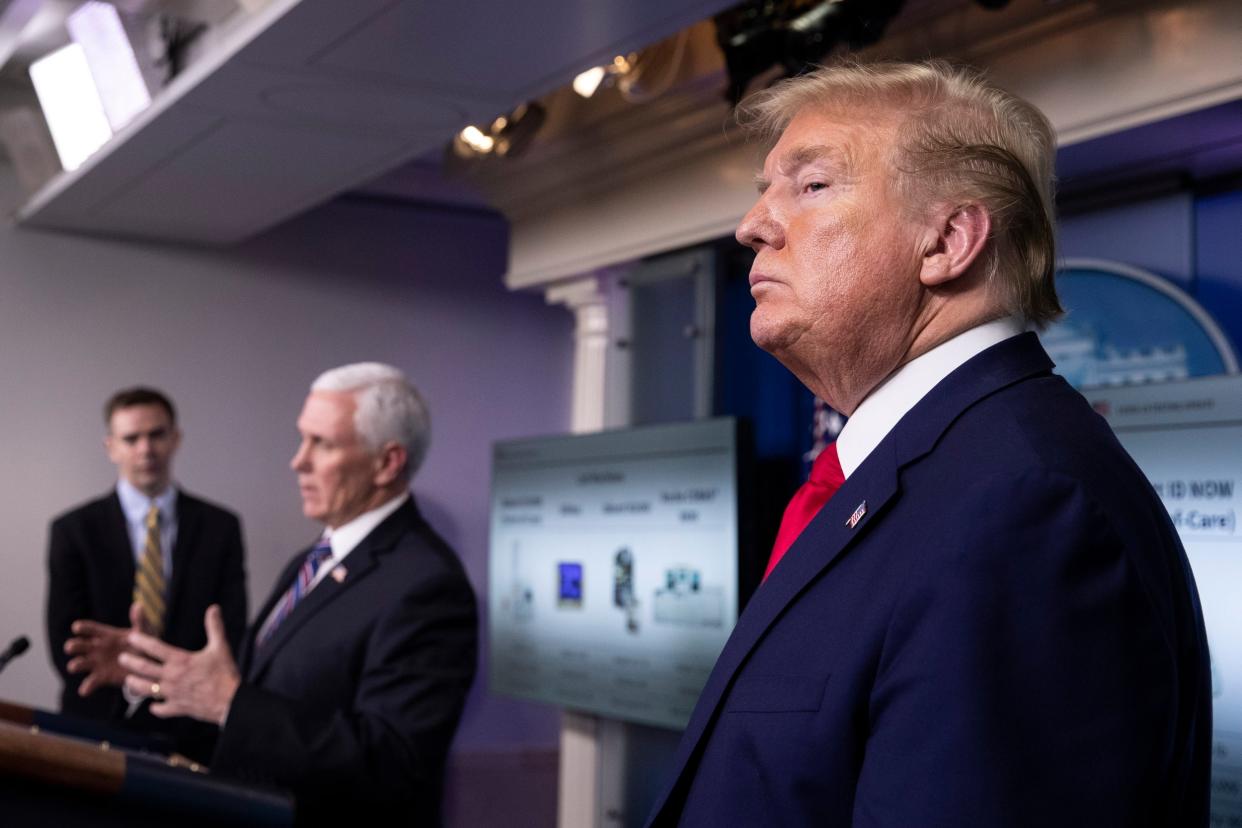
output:
[[[61,166],[76,170],[112,138],[82,46],[70,43],[39,58],[30,65],[30,79]]]

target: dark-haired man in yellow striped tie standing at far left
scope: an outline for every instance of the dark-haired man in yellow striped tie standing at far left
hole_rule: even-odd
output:
[[[202,647],[202,613],[211,605],[220,606],[229,641],[241,641],[241,524],[173,482],[181,432],[168,396],[118,391],[103,420],[117,485],[56,518],[50,533],[47,641],[63,682],[61,710],[166,731],[178,750],[201,756],[210,752],[210,730],[188,720],[158,722],[142,696],[125,699],[117,655],[132,624],[178,647]]]

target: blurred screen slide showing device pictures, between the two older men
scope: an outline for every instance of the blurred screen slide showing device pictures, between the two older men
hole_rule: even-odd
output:
[[[738,617],[737,422],[497,443],[491,688],[683,727]]]

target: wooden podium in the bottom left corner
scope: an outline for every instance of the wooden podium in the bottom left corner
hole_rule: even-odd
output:
[[[81,727],[78,720],[0,701],[4,824],[293,824],[288,793],[215,778],[188,760],[99,741],[97,734],[83,739]]]

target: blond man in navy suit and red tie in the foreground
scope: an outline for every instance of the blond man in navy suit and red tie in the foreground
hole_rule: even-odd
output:
[[[744,119],[774,142],[751,336],[850,420],[651,824],[1206,826],[1185,552],[1028,331],[1061,313],[1047,119],[941,62],[821,68]]]

